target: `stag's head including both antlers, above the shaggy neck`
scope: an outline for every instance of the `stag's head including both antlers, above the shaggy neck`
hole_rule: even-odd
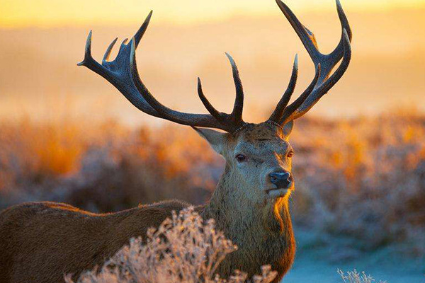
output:
[[[351,59],[351,29],[339,0],[336,0],[342,27],[341,40],[333,52],[322,54],[313,33],[298,21],[288,6],[280,0],[276,2],[310,54],[315,67],[315,76],[310,86],[289,104],[297,81],[298,65],[295,56],[288,88],[271,116],[261,124],[251,124],[242,119],[244,91],[237,65],[227,53],[236,86],[232,113],[220,112],[211,105],[203,93],[200,79],[198,79],[198,95],[209,114],[172,110],[152,96],[140,79],[135,61],[135,50],[149,25],[152,11],[130,42],[124,40],[118,56],[113,61],[108,59],[117,39],[115,38],[109,45],[102,63],[99,64],[91,57],[90,32],[84,60],[79,65],[103,76],[142,112],[196,129],[212,148],[225,158],[226,180],[230,179],[232,180],[230,183],[237,184],[232,188],[234,189],[232,194],[236,199],[259,203],[267,199],[285,197],[294,186],[291,172],[293,149],[288,141],[293,121],[310,110],[345,73]],[[339,67],[332,72],[340,61]],[[205,128],[221,129],[224,132]]]

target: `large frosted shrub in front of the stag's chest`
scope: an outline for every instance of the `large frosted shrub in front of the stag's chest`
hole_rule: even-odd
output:
[[[203,219],[185,209],[173,213],[158,229],[147,231],[146,241],[133,238],[100,272],[97,270],[81,275],[79,283],[242,283],[246,274],[235,271],[232,277],[222,279],[216,275],[217,267],[225,256],[237,250],[220,231],[215,231],[214,221]],[[252,278],[254,283],[268,283],[276,277],[269,266],[263,274]],[[71,276],[65,278],[73,283]]]

